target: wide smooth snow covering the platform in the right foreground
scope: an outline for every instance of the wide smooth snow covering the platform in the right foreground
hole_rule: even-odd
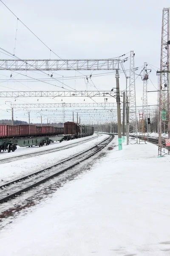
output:
[[[170,255],[170,156],[157,152],[150,143],[108,151],[2,229],[1,255]]]

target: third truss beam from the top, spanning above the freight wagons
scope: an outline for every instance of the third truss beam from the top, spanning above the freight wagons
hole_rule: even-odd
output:
[[[46,103],[46,104],[11,104],[11,108],[113,108],[116,103]]]

